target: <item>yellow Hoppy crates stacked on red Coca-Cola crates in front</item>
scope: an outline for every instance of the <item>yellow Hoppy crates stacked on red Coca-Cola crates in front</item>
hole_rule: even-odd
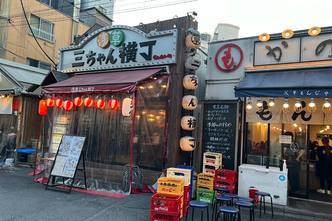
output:
[[[183,192],[183,178],[159,178],[157,193],[151,197],[150,221],[180,221]]]

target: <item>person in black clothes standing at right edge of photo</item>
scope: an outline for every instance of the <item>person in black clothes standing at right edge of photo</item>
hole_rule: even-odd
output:
[[[317,156],[320,168],[321,188],[317,190],[319,193],[331,194],[332,187],[332,147],[328,137],[322,138],[323,146],[318,148]],[[327,179],[328,189],[325,191],[325,178]]]

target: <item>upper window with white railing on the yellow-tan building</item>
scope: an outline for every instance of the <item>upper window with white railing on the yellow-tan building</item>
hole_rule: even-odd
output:
[[[54,29],[53,23],[31,14],[30,26],[36,38],[40,38],[45,41],[54,43],[55,36],[53,34],[53,29]],[[30,35],[32,35],[31,32]]]

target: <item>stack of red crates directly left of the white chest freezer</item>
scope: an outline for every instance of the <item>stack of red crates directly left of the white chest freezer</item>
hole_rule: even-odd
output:
[[[229,169],[216,169],[214,175],[214,188],[224,187],[230,190],[230,193],[236,192],[238,182],[238,172]]]

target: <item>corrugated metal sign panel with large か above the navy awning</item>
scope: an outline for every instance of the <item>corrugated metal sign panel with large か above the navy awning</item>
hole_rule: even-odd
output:
[[[255,42],[254,66],[332,59],[332,34]]]

